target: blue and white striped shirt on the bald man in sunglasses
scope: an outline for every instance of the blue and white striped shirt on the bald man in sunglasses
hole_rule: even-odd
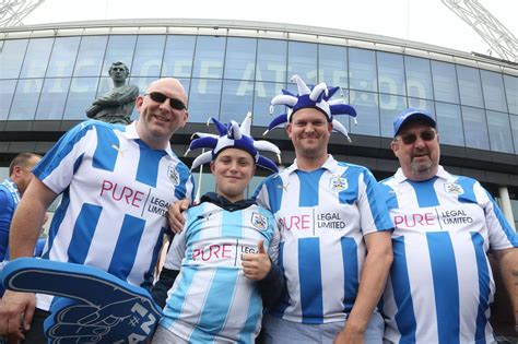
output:
[[[90,120],[67,132],[33,173],[62,193],[43,258],[151,286],[168,204],[192,199],[192,177],[170,147],[149,147],[136,122]],[[48,309],[49,301],[38,295],[37,307]]]

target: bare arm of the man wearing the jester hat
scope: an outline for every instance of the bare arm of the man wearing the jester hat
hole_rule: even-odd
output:
[[[363,333],[379,301],[392,264],[391,232],[376,232],[364,236],[367,256],[360,278],[358,293],[345,328],[334,343],[363,343]]]

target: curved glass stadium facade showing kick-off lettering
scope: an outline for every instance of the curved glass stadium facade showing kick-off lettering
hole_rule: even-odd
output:
[[[181,80],[191,122],[252,111],[271,120],[269,102],[306,82],[340,85],[356,107],[350,132],[392,135],[405,107],[437,117],[444,144],[518,154],[518,78],[423,57],[339,45],[209,35],[91,35],[0,40],[0,120],[81,120],[111,87],[108,68],[122,61],[143,93],[161,76]],[[340,95],[335,95],[339,97]],[[283,109],[275,108],[274,115]],[[137,116],[137,114],[133,114]]]

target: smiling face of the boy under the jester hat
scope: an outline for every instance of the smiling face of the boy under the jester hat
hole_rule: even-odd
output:
[[[243,200],[245,189],[256,173],[256,162],[250,153],[238,149],[226,149],[211,163],[217,193],[231,202]]]

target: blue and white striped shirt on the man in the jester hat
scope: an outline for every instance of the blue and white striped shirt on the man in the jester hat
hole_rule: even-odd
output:
[[[366,256],[363,237],[392,228],[374,176],[329,155],[310,173],[295,162],[270,176],[256,197],[273,212],[281,234],[287,294],[272,313],[302,323],[345,320]]]

